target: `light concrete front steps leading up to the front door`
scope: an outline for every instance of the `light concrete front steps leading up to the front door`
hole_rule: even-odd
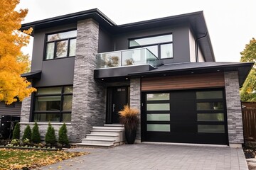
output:
[[[93,126],[89,134],[82,139],[79,147],[112,147],[124,142],[124,126],[120,124],[105,124]]]

